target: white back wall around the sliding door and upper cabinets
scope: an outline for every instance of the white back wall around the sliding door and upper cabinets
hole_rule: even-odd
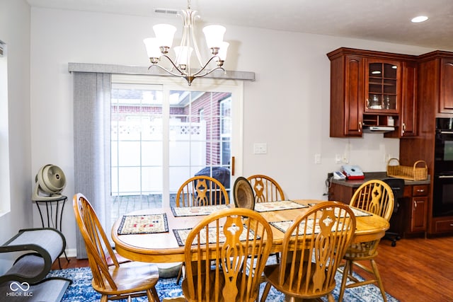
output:
[[[151,25],[158,21],[45,8],[32,8],[31,16],[32,163],[27,185],[33,186],[41,165],[54,163],[67,175],[64,194],[71,198],[73,91],[67,64],[147,66],[142,40],[153,35]],[[178,19],[173,20],[179,25]],[[335,163],[336,153],[348,151],[350,162],[365,171],[384,171],[384,156],[398,156],[398,139],[384,139],[382,134],[365,134],[363,139],[329,137],[330,62],[326,53],[338,47],[406,54],[431,49],[231,25],[227,25],[225,40],[232,44],[226,69],[256,72],[256,81],[244,85],[243,175],[271,175],[289,198],[323,199],[327,173],[340,167]],[[255,142],[267,143],[268,153],[254,155]],[[315,153],[321,154],[321,164],[314,164]],[[64,211],[63,232],[68,248],[74,249],[70,206]]]

